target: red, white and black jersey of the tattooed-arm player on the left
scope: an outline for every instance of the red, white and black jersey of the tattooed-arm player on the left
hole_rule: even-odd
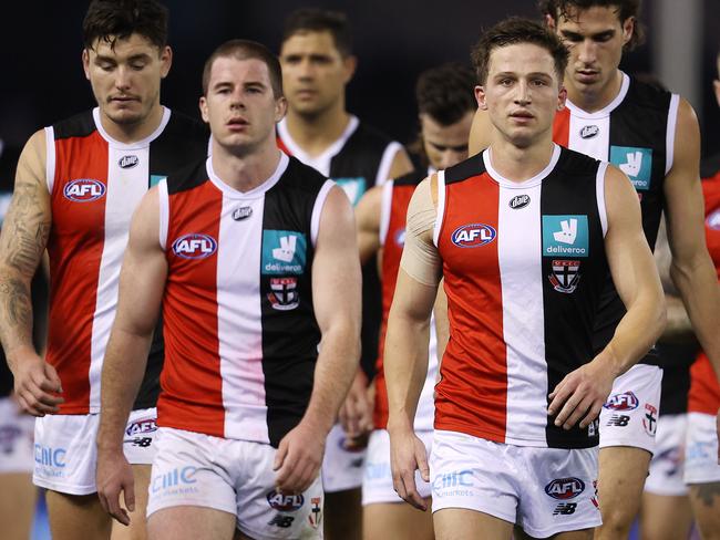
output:
[[[97,108],[45,128],[52,205],[47,360],[60,376],[60,414],[100,411],[100,374],[117,307],[130,221],[147,189],[188,160],[207,156],[208,133],[165,108],[144,141],[114,141]],[[155,405],[163,344],[156,332],[135,408]]]

